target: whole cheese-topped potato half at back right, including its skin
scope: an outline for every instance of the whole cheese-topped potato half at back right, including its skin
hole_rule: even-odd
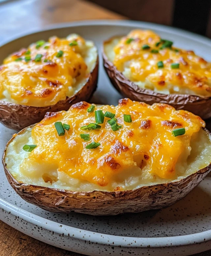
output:
[[[202,119],[211,117],[211,63],[172,46],[149,30],[133,30],[104,42],[105,70],[131,100],[166,103]]]

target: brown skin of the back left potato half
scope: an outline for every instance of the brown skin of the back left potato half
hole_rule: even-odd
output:
[[[97,88],[98,82],[98,57],[96,65],[90,73],[86,84],[72,97],[46,107],[31,107],[15,103],[0,101],[0,122],[8,128],[20,131],[25,127],[40,122],[46,112],[68,110],[71,105],[79,101],[89,101]]]

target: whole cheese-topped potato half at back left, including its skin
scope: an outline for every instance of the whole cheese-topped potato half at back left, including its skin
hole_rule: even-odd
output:
[[[0,122],[21,130],[47,111],[68,110],[88,101],[97,87],[98,53],[77,34],[40,40],[0,66]]]

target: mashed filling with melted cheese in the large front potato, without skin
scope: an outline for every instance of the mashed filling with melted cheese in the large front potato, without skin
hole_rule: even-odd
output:
[[[211,143],[202,129],[204,121],[194,114],[165,104],[119,101],[117,107],[95,106],[115,114],[121,128],[111,129],[105,117],[95,130],[81,130],[95,123],[95,110],[80,102],[67,112],[47,113],[43,121],[15,135],[6,152],[7,168],[19,182],[74,191],[118,191],[170,182],[209,165]],[[131,123],[123,114],[130,114]],[[69,124],[58,136],[55,122]],[[174,137],[172,130],[185,128]],[[89,134],[84,141],[80,134]],[[92,142],[95,149],[86,149]],[[23,146],[37,145],[32,152]]]

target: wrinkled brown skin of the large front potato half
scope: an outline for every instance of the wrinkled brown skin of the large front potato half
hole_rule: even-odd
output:
[[[209,134],[210,132],[204,128]],[[18,134],[24,133],[25,129]],[[210,172],[211,163],[203,169],[179,181],[158,185],[144,186],[135,190],[114,192],[76,192],[62,189],[45,188],[30,184],[20,183],[15,180],[5,163],[2,163],[5,174],[15,192],[24,200],[52,212],[79,212],[90,215],[117,215],[128,212],[142,212],[165,208],[186,196]]]

